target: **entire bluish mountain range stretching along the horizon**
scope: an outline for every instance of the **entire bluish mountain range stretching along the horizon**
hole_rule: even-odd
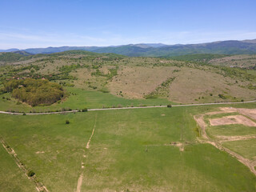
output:
[[[244,41],[220,41],[188,45],[178,44],[172,46],[162,43],[140,43],[123,46],[61,46],[31,48],[23,51],[26,51],[29,54],[52,54],[66,50],[86,50],[96,53],[122,54],[130,57],[143,56],[163,58],[185,54],[256,54],[256,39]],[[10,52],[10,50],[6,50],[6,52]]]

